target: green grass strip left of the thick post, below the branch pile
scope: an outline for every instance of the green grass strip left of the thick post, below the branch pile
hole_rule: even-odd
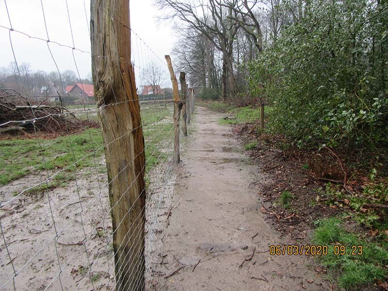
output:
[[[102,145],[100,129],[89,129],[95,145]],[[40,146],[39,146],[40,143]],[[22,178],[28,174],[45,170],[58,171],[80,160],[93,151],[96,146],[90,142],[88,131],[55,139],[12,139],[0,141],[0,184]],[[97,156],[103,150],[97,152]],[[74,154],[73,154],[74,153]],[[46,163],[45,163],[46,162]],[[77,169],[92,166],[93,155],[76,164]],[[57,178],[71,179],[72,168],[67,169]]]

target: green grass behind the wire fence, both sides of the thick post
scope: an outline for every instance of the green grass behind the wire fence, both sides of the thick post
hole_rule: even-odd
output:
[[[161,121],[165,116],[170,116],[170,108],[150,107],[142,109],[143,131],[146,145],[146,171],[149,171],[159,162],[164,161],[173,150],[173,124]],[[103,145],[101,129],[88,129],[92,137],[90,140],[87,130],[71,134],[68,136],[59,136],[54,139],[11,139],[0,141],[0,185],[23,178],[29,174],[45,172],[56,173],[66,167],[68,169],[58,173],[55,178],[49,181],[49,184],[42,184],[34,187],[29,192],[32,194],[43,193],[47,189],[58,186],[65,186],[68,181],[73,180],[74,166],[79,171],[94,166],[93,151]],[[163,144],[169,141],[169,144]],[[167,148],[166,148],[167,147]],[[96,158],[102,158],[104,148],[96,152]],[[44,162],[45,161],[45,162]],[[98,168],[99,172],[105,172]],[[86,172],[83,172],[86,173]]]

